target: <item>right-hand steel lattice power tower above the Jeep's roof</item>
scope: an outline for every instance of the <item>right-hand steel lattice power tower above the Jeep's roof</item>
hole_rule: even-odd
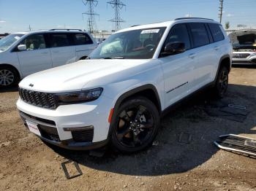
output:
[[[118,31],[121,28],[121,23],[124,23],[125,21],[121,19],[120,17],[120,10],[126,7],[126,4],[124,4],[120,0],[113,0],[113,1],[108,1],[107,4],[110,4],[111,7],[115,11],[115,18],[109,20],[112,22],[115,27],[113,26],[114,31]]]

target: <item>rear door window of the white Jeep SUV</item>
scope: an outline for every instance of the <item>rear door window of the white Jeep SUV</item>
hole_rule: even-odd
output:
[[[194,47],[201,47],[209,44],[209,37],[204,23],[189,23],[192,33]]]

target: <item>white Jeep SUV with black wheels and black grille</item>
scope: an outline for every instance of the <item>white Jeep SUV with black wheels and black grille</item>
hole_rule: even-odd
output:
[[[89,55],[20,82],[17,106],[40,139],[67,149],[151,145],[168,107],[212,85],[221,98],[232,46],[214,20],[179,18],[111,35]]]

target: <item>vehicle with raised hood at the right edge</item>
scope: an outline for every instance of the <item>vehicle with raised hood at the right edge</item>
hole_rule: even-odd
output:
[[[256,64],[256,30],[240,30],[229,34],[233,44],[233,64]]]

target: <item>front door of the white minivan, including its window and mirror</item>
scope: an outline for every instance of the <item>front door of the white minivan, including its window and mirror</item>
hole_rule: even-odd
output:
[[[50,50],[46,46],[43,34],[32,34],[20,44],[26,44],[26,50],[19,51],[16,48],[20,69],[24,77],[52,67]]]

